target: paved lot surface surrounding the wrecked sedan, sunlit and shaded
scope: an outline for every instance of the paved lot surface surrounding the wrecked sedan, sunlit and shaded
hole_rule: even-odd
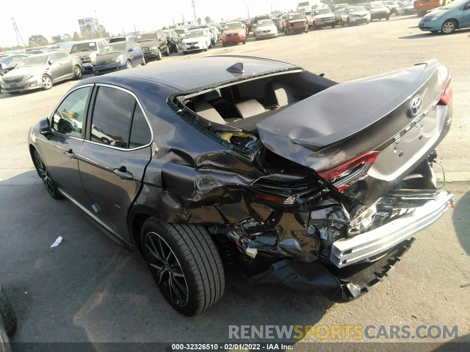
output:
[[[75,83],[47,92],[0,94],[0,284],[16,308],[14,341],[221,342],[228,338],[228,325],[243,324],[437,324],[458,325],[459,336],[469,334],[470,286],[461,286],[470,283],[470,31],[423,33],[417,23],[416,16],[392,16],[262,41],[251,35],[246,45],[222,48],[219,43],[207,53],[163,59],[183,65],[194,56],[267,57],[337,82],[432,58],[450,68],[454,119],[438,160],[451,181],[447,186],[455,194],[455,208],[418,234],[389,278],[348,304],[251,286],[233,277],[209,311],[193,318],[177,314],[139,255],[115,245],[70,202],[52,199],[31,170],[29,127],[50,115]],[[58,236],[63,242],[50,248]]]

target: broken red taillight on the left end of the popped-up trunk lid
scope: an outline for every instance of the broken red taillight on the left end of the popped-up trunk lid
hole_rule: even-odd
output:
[[[320,172],[319,175],[343,191],[354,182],[367,175],[370,167],[374,164],[380,152],[367,152],[354,159],[346,161],[329,170]]]

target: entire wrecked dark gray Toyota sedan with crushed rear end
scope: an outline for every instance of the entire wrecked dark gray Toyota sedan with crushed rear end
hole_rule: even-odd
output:
[[[234,270],[336,302],[379,283],[453,204],[438,61],[338,84],[281,61],[191,59],[80,81],[29,132],[54,199],[139,251],[181,314]]]

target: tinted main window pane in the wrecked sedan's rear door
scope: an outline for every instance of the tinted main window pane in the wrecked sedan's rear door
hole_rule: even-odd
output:
[[[128,92],[99,87],[91,121],[91,140],[126,148],[134,103],[134,97]]]

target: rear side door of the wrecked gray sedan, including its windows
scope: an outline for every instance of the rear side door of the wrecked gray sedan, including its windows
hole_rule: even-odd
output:
[[[106,229],[131,243],[127,212],[150,161],[152,133],[132,92],[107,84],[97,84],[97,88],[78,158],[80,176]],[[100,133],[92,133],[92,126]]]

